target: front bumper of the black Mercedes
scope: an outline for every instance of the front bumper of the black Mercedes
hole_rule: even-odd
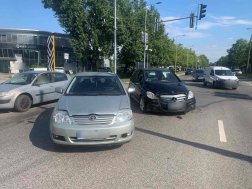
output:
[[[168,109],[168,106],[170,103],[177,103],[177,102],[169,102],[163,101],[162,99],[159,100],[147,100],[147,109],[152,112],[189,112],[191,110],[194,110],[196,107],[196,99],[192,98],[185,101],[185,107],[184,108],[177,108],[170,110]],[[168,105],[168,106],[167,106]]]

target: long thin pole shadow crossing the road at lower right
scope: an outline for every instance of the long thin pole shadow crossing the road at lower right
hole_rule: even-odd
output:
[[[188,140],[179,139],[179,138],[176,138],[176,137],[172,137],[172,136],[169,136],[169,135],[164,135],[164,134],[161,134],[161,133],[157,133],[157,132],[154,132],[154,131],[150,131],[150,130],[146,130],[146,129],[142,129],[142,128],[138,128],[138,127],[136,127],[135,130],[143,132],[143,133],[147,133],[147,134],[150,134],[150,135],[154,135],[154,136],[157,136],[157,137],[161,137],[161,138],[164,138],[164,139],[168,139],[168,140],[171,140],[171,141],[174,141],[174,142],[179,142],[179,143],[182,143],[182,144],[185,144],[185,145],[189,145],[189,146],[192,146],[192,147],[195,147],[195,148],[198,148],[198,149],[207,150],[207,151],[210,151],[210,152],[213,152],[213,153],[216,153],[216,154],[220,154],[220,155],[223,155],[223,156],[226,156],[226,157],[231,157],[231,158],[235,158],[235,159],[239,159],[239,160],[243,160],[243,161],[247,161],[249,163],[252,163],[252,157],[251,156],[239,154],[239,153],[236,153],[236,152],[231,152],[231,151],[228,151],[228,150],[223,150],[223,149],[220,149],[220,148],[216,148],[216,147],[213,147],[213,146],[208,146],[208,145],[205,145],[205,144],[200,144],[200,143],[197,143],[197,142],[191,142],[191,141],[188,141]]]

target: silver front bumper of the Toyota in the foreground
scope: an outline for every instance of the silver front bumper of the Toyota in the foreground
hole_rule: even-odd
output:
[[[96,133],[96,137],[77,138],[77,132]],[[130,133],[130,136],[125,134]],[[51,119],[50,134],[54,143],[62,145],[116,145],[127,143],[134,136],[134,118],[130,121],[107,126],[80,126],[55,123]],[[104,134],[107,137],[104,137]],[[58,136],[57,139],[55,136]],[[99,137],[99,135],[101,137]],[[62,138],[63,137],[63,138]]]

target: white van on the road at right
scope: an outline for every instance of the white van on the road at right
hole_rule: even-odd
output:
[[[226,67],[210,66],[204,72],[204,86],[207,84],[212,85],[213,88],[220,86],[237,89],[239,79]]]

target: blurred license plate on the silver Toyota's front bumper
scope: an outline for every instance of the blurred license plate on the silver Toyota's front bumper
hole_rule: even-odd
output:
[[[103,139],[110,136],[108,131],[105,130],[92,130],[92,131],[77,131],[77,139]]]

